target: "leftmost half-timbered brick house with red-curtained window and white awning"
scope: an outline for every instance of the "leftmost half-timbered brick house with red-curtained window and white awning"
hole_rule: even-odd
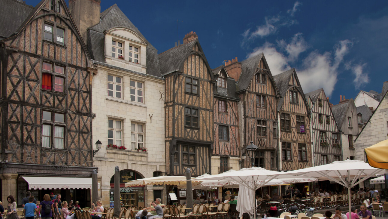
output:
[[[1,4],[2,200],[12,195],[20,204],[27,189],[42,200],[53,188],[69,188],[62,198],[78,194],[85,197],[80,201],[88,201],[90,190],[52,178],[81,180],[94,169],[90,81],[96,70],[87,47],[65,1],[42,0],[36,7],[14,0]],[[55,186],[35,180],[55,180]]]

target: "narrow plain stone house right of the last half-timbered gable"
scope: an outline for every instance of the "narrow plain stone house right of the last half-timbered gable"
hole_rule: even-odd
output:
[[[356,151],[354,140],[359,134],[357,107],[354,104],[353,99],[342,100],[340,96],[340,102],[332,107],[333,115],[338,126],[338,131],[341,133],[341,149],[342,160],[347,158],[355,159]],[[362,116],[361,116],[362,117]]]

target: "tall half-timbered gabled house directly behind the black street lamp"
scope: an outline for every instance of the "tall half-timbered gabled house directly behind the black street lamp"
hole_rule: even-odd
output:
[[[237,61],[237,60],[236,60]],[[225,68],[236,65],[228,63]],[[241,99],[240,145],[251,141],[258,146],[255,166],[276,170],[277,112],[280,93],[265,60],[258,54],[241,62],[241,74],[237,74],[237,93]],[[250,166],[246,159],[244,166]]]

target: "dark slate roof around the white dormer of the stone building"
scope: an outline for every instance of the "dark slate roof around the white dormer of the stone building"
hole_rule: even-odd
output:
[[[137,33],[140,37],[145,37],[140,33],[135,25],[125,16],[117,4],[112,5],[100,13],[100,23],[88,29],[88,51],[93,60],[105,63],[104,59],[104,31],[114,27],[125,27]],[[161,77],[158,50],[155,49],[146,39],[147,44],[147,74]]]

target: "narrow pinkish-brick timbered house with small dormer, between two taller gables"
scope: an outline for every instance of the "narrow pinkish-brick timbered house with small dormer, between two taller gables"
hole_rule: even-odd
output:
[[[217,81],[214,88],[214,149],[211,157],[212,173],[239,170],[238,103],[236,82],[224,66],[212,70]]]

